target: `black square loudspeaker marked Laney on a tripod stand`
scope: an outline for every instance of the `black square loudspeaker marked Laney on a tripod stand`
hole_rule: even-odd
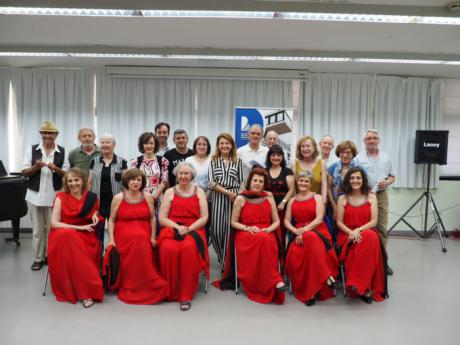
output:
[[[447,164],[449,131],[415,132],[415,164]]]

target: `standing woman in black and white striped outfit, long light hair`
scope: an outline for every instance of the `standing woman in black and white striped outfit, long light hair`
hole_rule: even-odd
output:
[[[217,137],[216,147],[209,167],[212,201],[211,242],[223,268],[233,200],[243,183],[243,163],[236,155],[235,141],[229,133],[222,133]]]

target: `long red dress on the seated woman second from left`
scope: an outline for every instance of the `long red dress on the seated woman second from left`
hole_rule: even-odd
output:
[[[120,253],[118,298],[130,304],[154,304],[168,298],[168,284],[156,268],[150,242],[147,201],[120,203],[115,223],[115,245]]]

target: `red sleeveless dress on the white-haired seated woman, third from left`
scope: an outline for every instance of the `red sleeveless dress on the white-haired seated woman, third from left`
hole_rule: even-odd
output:
[[[174,193],[168,218],[184,225],[192,225],[200,218],[200,202],[195,192],[190,197]],[[200,273],[204,270],[209,279],[209,255],[204,228],[194,231],[204,244],[204,258],[198,250],[196,240],[188,234],[180,241],[174,239],[173,228],[162,228],[158,238],[160,270],[168,281],[169,300],[189,302],[193,299]]]

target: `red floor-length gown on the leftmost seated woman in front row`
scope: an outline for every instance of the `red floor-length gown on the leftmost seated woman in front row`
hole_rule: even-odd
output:
[[[61,222],[72,225],[92,223],[99,209],[96,201],[90,212],[81,217],[80,211],[88,192],[76,199],[70,193],[59,192]],[[100,245],[97,232],[68,228],[51,228],[48,242],[48,269],[51,288],[58,301],[76,303],[79,300],[102,301],[104,290],[99,275]]]

